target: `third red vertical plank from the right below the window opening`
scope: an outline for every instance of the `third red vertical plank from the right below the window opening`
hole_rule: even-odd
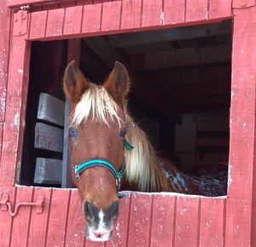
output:
[[[155,195],[151,223],[151,246],[172,246],[175,196]]]

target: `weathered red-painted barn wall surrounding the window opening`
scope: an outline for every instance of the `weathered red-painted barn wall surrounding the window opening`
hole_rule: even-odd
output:
[[[9,7],[45,0],[9,0]],[[254,246],[256,244],[255,150],[255,26],[254,0],[231,1],[87,1],[77,7],[38,6],[28,13],[28,30],[14,36],[7,1],[0,3],[3,36],[0,39],[1,192],[12,204],[35,201],[44,195],[42,214],[20,208],[12,218],[0,210],[1,246],[102,246],[84,240],[84,222],[75,190],[15,187],[24,129],[30,45],[27,40],[55,39],[193,25],[234,18],[232,101],[230,112],[230,187],[227,198],[198,198],[168,194],[131,194],[121,202],[121,215],[107,246]],[[55,1],[60,3],[60,1]],[[85,3],[85,2],[84,2]],[[143,5],[142,5],[143,4]],[[162,5],[163,4],[163,5]],[[173,9],[179,11],[173,12]],[[246,8],[246,9],[244,9]],[[49,8],[48,8],[49,9]],[[176,9],[176,10],[177,10]],[[157,11],[155,11],[157,10]],[[74,13],[83,13],[79,16]],[[233,12],[233,13],[232,13]],[[151,14],[150,14],[151,13]],[[152,14],[154,13],[154,14]],[[158,16],[155,13],[160,13]],[[143,14],[144,17],[143,17]],[[74,16],[75,15],[75,16]],[[134,17],[134,18],[131,18]],[[67,22],[73,24],[68,26]],[[15,24],[14,24],[15,25]],[[10,40],[9,40],[10,37]],[[10,42],[11,41],[11,42]],[[9,44],[10,43],[10,44]],[[9,44],[9,45],[8,45]],[[7,77],[7,72],[9,76]],[[8,86],[5,101],[4,89]],[[6,104],[6,109],[5,105]],[[6,111],[6,112],[5,112]],[[5,112],[5,118],[4,118]],[[246,125],[244,125],[246,123]],[[247,127],[245,129],[245,126]],[[2,142],[3,132],[3,142]],[[1,150],[1,147],[0,147]],[[242,186],[241,186],[242,185]],[[58,223],[57,223],[58,222]],[[188,241],[189,239],[189,241]],[[21,245],[20,245],[21,244]]]

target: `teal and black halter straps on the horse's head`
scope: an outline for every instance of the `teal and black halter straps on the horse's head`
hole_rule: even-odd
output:
[[[128,150],[132,150],[134,147],[129,144],[128,141],[124,138],[124,145]],[[119,172],[114,168],[113,164],[108,162],[108,160],[104,158],[90,158],[82,162],[81,164],[76,164],[73,166],[73,170],[75,173],[75,178],[79,178],[79,174],[81,174],[85,169],[89,169],[91,167],[104,167],[107,168],[115,178],[116,181],[116,189],[117,192],[119,192],[121,187],[121,178],[124,175],[125,172],[125,164],[123,164],[122,169],[119,170]]]

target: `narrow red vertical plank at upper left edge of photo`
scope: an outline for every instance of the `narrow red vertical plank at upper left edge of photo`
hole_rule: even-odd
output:
[[[7,1],[0,3],[0,122],[4,121],[6,84],[8,77],[9,61],[9,32],[10,32],[10,9],[6,6]]]

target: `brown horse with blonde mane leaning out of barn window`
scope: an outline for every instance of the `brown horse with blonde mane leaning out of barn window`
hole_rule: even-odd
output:
[[[111,238],[123,174],[122,182],[143,192],[225,194],[226,181],[185,175],[157,157],[147,135],[127,112],[130,80],[119,62],[105,83],[96,85],[84,78],[73,61],[66,68],[63,87],[71,102],[73,183],[83,201],[87,238]]]

